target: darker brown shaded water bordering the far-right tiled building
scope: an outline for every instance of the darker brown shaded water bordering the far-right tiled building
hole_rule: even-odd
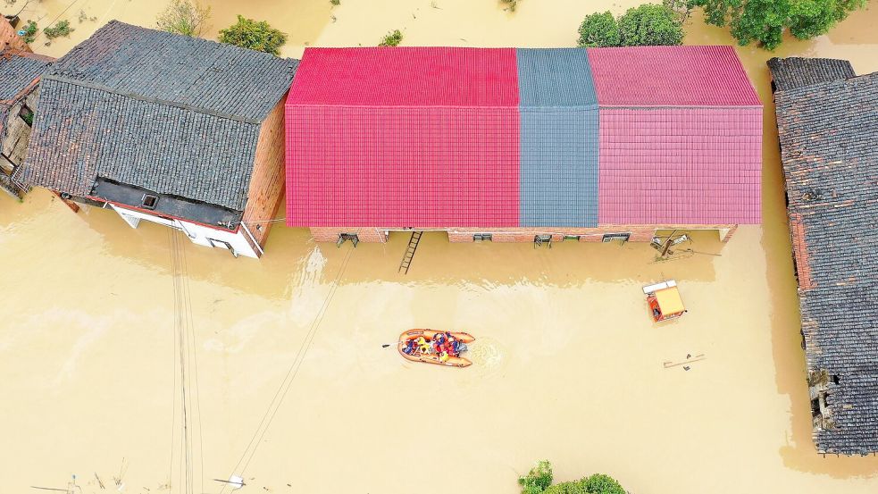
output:
[[[843,43],[876,43],[874,29],[864,29],[874,23],[869,10],[854,13],[849,20],[833,29],[829,35],[833,43],[844,38]],[[724,29],[706,26],[696,16],[695,29],[687,34],[687,44],[734,44]],[[846,29],[852,26],[851,29]],[[865,35],[843,33],[871,33]],[[773,56],[845,56],[857,65],[855,56],[822,53],[824,46],[818,40],[802,41],[785,38],[782,46],[774,52],[755,47],[737,47],[741,62],[759,98],[765,105],[763,115],[763,238],[765,249],[766,280],[771,297],[772,351],[774,379],[780,393],[790,397],[790,432],[786,445],[779,453],[783,464],[789,468],[808,473],[824,473],[835,478],[871,477],[878,474],[878,461],[874,456],[822,456],[816,452],[811,439],[811,414],[807,393],[805,353],[799,333],[799,297],[792,265],[792,247],[787,224],[783,173],[777,124],[774,116],[771,92],[771,74],[766,65]],[[873,52],[874,54],[874,52]],[[859,61],[864,62],[864,61]],[[872,65],[876,61],[870,61]],[[871,70],[878,70],[878,66]]]

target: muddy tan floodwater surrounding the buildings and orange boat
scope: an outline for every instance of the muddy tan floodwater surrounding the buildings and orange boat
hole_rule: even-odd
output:
[[[213,2],[210,32],[238,13],[264,18],[289,33],[290,56],[375,45],[390,29],[406,45],[573,46],[586,13],[637,3]],[[71,38],[35,45],[57,56],[113,18],[151,26],[162,7],[28,8],[70,14]],[[78,23],[79,10],[98,21]],[[185,470],[193,491],[215,493],[213,479],[246,465],[242,492],[513,493],[540,458],[559,481],[606,472],[639,494],[878,491],[878,457],[819,456],[810,439],[765,66],[799,54],[878,71],[876,13],[775,54],[738,49],[765,102],[764,224],[725,246],[695,233],[697,253],[671,261],[645,245],[453,245],[428,233],[404,276],[403,234],[336,248],[282,226],[262,260],[236,260],[173,247],[168,230],[131,230],[112,211],[72,214],[45,190],[0,195],[0,492],[67,489],[73,475],[87,493],[178,492]],[[732,43],[698,18],[687,32],[690,44]],[[690,312],[656,326],[640,287],[665,278]],[[188,455],[179,327],[192,330]],[[411,364],[382,347],[411,327],[472,332],[474,364]],[[674,365],[687,356],[690,370]]]

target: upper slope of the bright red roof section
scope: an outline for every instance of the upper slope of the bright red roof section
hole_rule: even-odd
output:
[[[516,106],[514,48],[305,48],[288,105]]]

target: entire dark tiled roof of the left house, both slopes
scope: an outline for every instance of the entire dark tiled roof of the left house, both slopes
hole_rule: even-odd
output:
[[[241,211],[261,121],[296,67],[110,22],[47,71],[17,177],[74,196],[104,178]]]

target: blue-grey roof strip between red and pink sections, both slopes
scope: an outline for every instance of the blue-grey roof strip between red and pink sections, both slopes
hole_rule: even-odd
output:
[[[581,48],[518,48],[521,226],[598,226],[598,96]]]

